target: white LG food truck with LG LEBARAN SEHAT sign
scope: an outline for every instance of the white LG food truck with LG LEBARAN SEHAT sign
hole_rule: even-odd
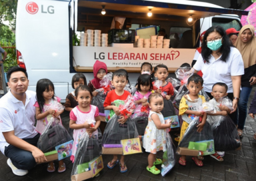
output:
[[[101,10],[105,6],[105,15]],[[151,9],[153,15],[147,16]],[[20,0],[17,6],[17,63],[29,75],[29,89],[35,90],[39,79],[50,79],[55,94],[62,101],[71,92],[71,79],[77,72],[93,79],[93,64],[97,59],[107,64],[109,71],[124,68],[135,83],[140,65],[149,61],[164,63],[173,73],[183,63],[191,64],[199,33],[212,25],[225,29],[241,29],[239,15],[247,11],[224,9],[197,1],[127,1],[127,0]],[[107,33],[113,17],[127,17],[130,29],[157,25],[168,37],[179,37],[172,49],[141,49],[121,47],[73,46],[76,31],[100,29]],[[192,22],[187,22],[189,17]],[[185,33],[187,32],[187,33]],[[186,37],[187,36],[187,37]],[[176,46],[176,47],[175,47]]]

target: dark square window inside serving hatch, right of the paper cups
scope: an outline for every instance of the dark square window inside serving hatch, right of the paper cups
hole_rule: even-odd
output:
[[[171,48],[192,49],[192,29],[187,27],[171,27],[169,39]]]

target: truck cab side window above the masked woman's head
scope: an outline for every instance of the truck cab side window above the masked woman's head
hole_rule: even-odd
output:
[[[237,31],[239,31],[242,27],[241,23],[237,19],[228,19],[228,18],[219,18],[219,17],[213,17],[212,25],[213,26],[219,25],[223,27],[223,29],[225,30],[234,28]]]

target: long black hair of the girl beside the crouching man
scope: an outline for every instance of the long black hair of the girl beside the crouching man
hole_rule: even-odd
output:
[[[54,99],[55,93],[54,93],[53,83],[49,79],[40,79],[39,81],[37,81],[37,88],[35,91],[37,92],[37,102],[39,104],[39,109],[41,112],[43,111],[43,104],[45,104],[45,98],[43,98],[43,92],[45,92],[45,90],[49,91],[50,87],[53,89],[52,99]]]

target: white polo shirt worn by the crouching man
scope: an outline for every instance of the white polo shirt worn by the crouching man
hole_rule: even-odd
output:
[[[5,154],[5,146],[9,146],[2,132],[14,130],[15,136],[33,138],[38,132],[35,131],[35,107],[36,94],[27,90],[25,105],[17,100],[11,91],[0,98],[0,150]]]

